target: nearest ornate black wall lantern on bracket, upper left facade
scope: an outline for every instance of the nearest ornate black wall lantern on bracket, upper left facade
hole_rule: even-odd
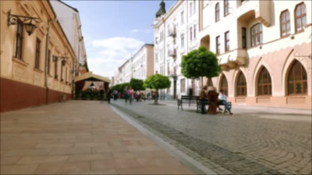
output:
[[[32,20],[34,20],[37,23],[41,21],[41,19],[37,17],[13,15],[11,14],[11,10],[8,11],[8,26],[16,25],[18,21],[22,21],[23,25],[25,25],[26,32],[28,33],[29,36],[33,33],[33,31],[36,28],[36,26],[32,24]]]

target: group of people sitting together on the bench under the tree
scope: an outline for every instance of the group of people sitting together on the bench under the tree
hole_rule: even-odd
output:
[[[230,109],[228,102],[227,102],[226,95],[224,94],[223,90],[220,90],[220,93],[218,94],[217,90],[216,90],[216,88],[214,88],[214,86],[209,86],[209,88],[208,88],[206,85],[204,85],[203,89],[200,93],[200,100],[201,100],[201,104],[202,104],[202,107],[201,107],[202,113],[201,114],[207,114],[206,109],[205,109],[206,105],[208,105],[208,113],[209,114],[218,114],[217,108],[219,108],[219,110],[220,110],[219,105],[222,104],[225,106],[225,110],[223,113],[228,112],[230,115],[232,115],[231,109]]]

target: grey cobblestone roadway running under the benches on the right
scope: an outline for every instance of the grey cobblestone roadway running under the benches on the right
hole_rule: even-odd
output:
[[[123,100],[112,105],[170,138],[181,150],[195,152],[189,155],[217,173],[312,173],[310,115],[242,108],[233,108],[231,116],[201,115],[193,109],[178,111],[176,106],[148,102],[130,105]]]

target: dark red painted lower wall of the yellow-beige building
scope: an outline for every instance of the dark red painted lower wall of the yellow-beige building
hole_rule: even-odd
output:
[[[57,102],[61,100],[62,94],[59,91],[0,78],[0,112]],[[66,94],[66,100],[71,98],[71,94]]]

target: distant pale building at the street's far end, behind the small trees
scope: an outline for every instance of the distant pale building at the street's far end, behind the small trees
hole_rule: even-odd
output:
[[[131,78],[145,80],[152,74],[154,74],[154,46],[145,44],[114,71],[114,85],[130,82]]]

